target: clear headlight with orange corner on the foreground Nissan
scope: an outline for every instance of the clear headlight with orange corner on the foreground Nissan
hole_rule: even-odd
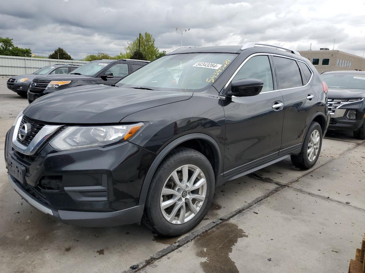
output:
[[[126,141],[144,124],[113,126],[70,126],[55,137],[50,145],[57,150],[70,150],[92,146],[107,146]]]

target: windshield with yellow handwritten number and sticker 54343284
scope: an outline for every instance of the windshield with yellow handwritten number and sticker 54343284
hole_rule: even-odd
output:
[[[236,56],[226,53],[166,55],[126,76],[116,86],[160,91],[203,91],[219,78]]]

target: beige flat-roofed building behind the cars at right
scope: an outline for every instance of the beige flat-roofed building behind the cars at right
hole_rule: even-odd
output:
[[[365,71],[365,58],[339,50],[299,51],[300,55],[310,60],[317,71],[360,70]]]

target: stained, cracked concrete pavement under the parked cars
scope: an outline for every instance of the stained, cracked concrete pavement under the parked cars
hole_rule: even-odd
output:
[[[5,82],[0,149],[27,105]],[[15,193],[0,156],[0,272],[347,272],[365,232],[365,144],[329,137],[311,170],[287,159],[216,188],[203,222],[177,238],[53,221]]]

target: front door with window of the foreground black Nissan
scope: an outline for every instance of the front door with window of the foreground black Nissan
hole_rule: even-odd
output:
[[[229,98],[224,106],[224,176],[276,157],[281,147],[283,97],[279,91],[274,90],[269,57],[251,57],[232,82],[239,79],[260,79],[264,82],[264,87],[256,96]]]

